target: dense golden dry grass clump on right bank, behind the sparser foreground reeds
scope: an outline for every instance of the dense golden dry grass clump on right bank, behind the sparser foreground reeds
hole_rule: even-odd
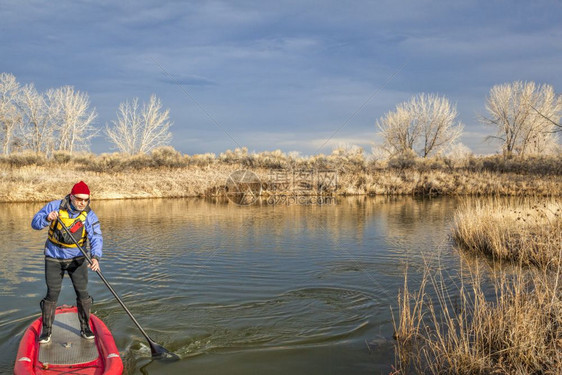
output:
[[[453,239],[461,248],[497,260],[541,268],[560,266],[562,203],[505,201],[464,204],[455,214]]]

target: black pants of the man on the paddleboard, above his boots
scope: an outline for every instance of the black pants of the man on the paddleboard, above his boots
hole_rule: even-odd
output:
[[[88,262],[85,257],[72,259],[45,258],[45,281],[47,282],[47,301],[57,302],[62,287],[64,273],[72,280],[76,298],[87,299],[88,294]]]

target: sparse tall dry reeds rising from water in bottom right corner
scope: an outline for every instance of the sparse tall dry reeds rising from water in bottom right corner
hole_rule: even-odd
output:
[[[458,280],[426,268],[419,290],[405,282],[395,322],[396,374],[560,374],[560,272],[480,270]]]

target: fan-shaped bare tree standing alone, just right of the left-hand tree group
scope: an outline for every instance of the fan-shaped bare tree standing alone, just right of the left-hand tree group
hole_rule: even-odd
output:
[[[155,95],[139,108],[138,98],[119,105],[117,120],[113,128],[106,126],[109,140],[121,152],[128,154],[148,153],[152,149],[167,145],[172,135],[169,120],[170,110],[162,110],[160,99]]]

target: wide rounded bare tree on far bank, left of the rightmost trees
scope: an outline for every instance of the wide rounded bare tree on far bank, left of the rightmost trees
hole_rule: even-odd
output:
[[[445,97],[419,94],[377,121],[383,149],[391,155],[415,152],[428,157],[442,152],[462,134],[457,110]]]

